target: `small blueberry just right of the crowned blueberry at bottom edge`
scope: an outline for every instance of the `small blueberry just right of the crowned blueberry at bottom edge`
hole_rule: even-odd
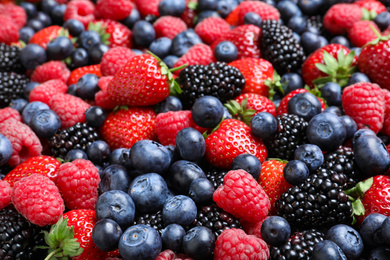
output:
[[[178,224],[170,224],[166,226],[161,233],[163,248],[179,252],[181,250],[185,234],[186,231],[184,228]]]

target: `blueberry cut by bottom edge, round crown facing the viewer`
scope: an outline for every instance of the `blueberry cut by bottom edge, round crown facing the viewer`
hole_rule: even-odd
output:
[[[139,224],[126,229],[119,240],[119,253],[124,259],[154,260],[160,254],[160,234],[152,227]]]

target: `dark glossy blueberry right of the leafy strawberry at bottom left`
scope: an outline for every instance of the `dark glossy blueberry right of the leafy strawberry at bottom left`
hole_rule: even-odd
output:
[[[92,228],[92,240],[102,251],[109,252],[118,249],[122,229],[112,219],[101,219]]]

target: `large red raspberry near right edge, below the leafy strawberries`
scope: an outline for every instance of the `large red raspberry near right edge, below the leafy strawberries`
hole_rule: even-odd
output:
[[[361,82],[346,87],[341,96],[345,114],[352,117],[358,128],[378,133],[383,127],[385,95],[374,83]]]

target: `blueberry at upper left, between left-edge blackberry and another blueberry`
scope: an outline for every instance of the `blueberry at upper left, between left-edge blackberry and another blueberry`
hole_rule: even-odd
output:
[[[29,70],[33,70],[46,62],[45,49],[37,44],[27,44],[27,46],[20,51],[19,55],[23,67]]]

